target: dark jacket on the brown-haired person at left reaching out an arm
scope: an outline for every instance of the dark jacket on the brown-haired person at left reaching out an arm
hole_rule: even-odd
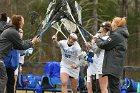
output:
[[[21,40],[14,26],[7,26],[0,35],[0,59],[4,59],[12,49],[25,50],[30,47],[31,40]]]

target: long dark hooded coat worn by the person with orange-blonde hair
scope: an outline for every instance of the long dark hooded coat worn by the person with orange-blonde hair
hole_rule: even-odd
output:
[[[122,75],[128,36],[127,28],[122,26],[111,31],[107,40],[97,39],[97,46],[105,49],[103,74],[110,74],[117,78],[120,78]]]

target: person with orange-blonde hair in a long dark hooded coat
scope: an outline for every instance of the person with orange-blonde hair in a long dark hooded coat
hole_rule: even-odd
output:
[[[123,72],[127,38],[129,36],[125,17],[115,17],[111,23],[111,27],[112,30],[110,31],[109,38],[102,40],[99,37],[96,39],[96,44],[99,48],[105,49],[102,71],[104,77],[106,77],[104,82],[108,83],[106,89],[109,88],[111,93],[121,93],[119,79]]]

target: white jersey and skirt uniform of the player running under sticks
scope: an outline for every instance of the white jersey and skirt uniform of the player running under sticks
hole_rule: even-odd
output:
[[[69,74],[69,76],[78,79],[80,71],[79,66],[81,64],[80,57],[83,57],[81,47],[77,41],[75,41],[72,46],[69,46],[67,42],[67,40],[61,40],[58,42],[62,54],[60,73],[65,72]],[[76,64],[78,68],[73,69],[71,67],[72,64]]]

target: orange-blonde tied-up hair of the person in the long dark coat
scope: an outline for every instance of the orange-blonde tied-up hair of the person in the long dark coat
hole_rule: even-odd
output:
[[[113,19],[113,22],[116,23],[116,26],[117,27],[124,26],[124,25],[126,25],[126,17],[123,17],[123,18],[121,18],[121,17],[115,17]]]

